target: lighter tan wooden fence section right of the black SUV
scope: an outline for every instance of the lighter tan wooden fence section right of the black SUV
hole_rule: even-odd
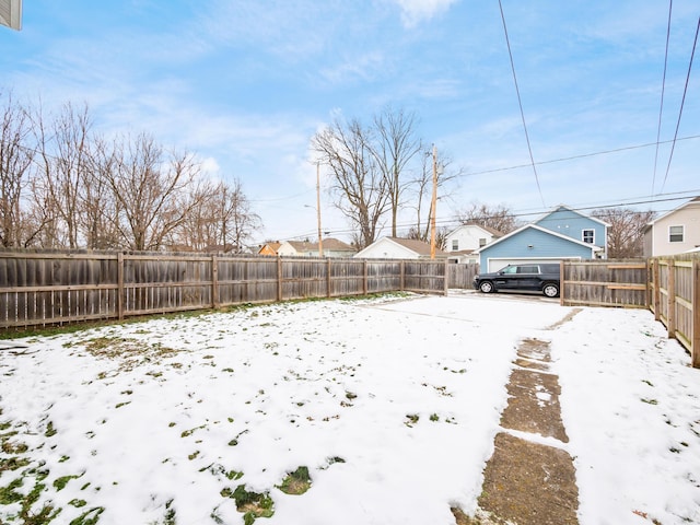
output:
[[[648,308],[700,368],[700,256],[565,261],[561,304]]]

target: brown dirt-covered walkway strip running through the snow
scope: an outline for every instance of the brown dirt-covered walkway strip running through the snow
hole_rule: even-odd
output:
[[[477,517],[453,510],[457,525],[574,525],[579,489],[561,421],[559,378],[549,342],[526,339],[517,349],[495,450],[483,471]]]

